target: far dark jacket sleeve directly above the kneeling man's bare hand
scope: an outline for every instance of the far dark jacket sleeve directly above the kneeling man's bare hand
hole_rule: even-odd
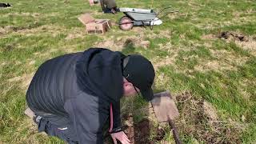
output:
[[[113,129],[121,127],[120,101],[114,102],[113,106]]]

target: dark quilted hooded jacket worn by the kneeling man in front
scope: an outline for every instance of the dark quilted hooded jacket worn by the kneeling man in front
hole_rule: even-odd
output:
[[[90,48],[50,59],[34,74],[26,93],[27,105],[36,114],[67,119],[79,143],[103,143],[102,126],[109,118],[110,103],[113,127],[121,126],[123,58],[120,52]]]

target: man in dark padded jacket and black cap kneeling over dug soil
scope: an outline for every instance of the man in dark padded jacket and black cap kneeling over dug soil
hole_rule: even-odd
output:
[[[69,143],[103,143],[110,119],[114,143],[130,143],[120,118],[120,98],[153,98],[154,67],[142,55],[102,48],[65,54],[42,64],[26,93],[38,131]]]

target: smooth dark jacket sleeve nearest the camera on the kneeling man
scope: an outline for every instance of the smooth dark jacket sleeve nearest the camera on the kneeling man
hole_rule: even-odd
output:
[[[94,100],[86,97],[71,98],[65,102],[79,143],[102,144],[102,126],[108,114],[100,113]]]

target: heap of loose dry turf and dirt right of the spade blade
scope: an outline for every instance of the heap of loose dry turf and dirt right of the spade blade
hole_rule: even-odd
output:
[[[218,118],[217,111],[209,102],[188,92],[176,95],[176,99],[180,112],[176,120],[179,133],[205,143],[241,143],[242,127]]]

